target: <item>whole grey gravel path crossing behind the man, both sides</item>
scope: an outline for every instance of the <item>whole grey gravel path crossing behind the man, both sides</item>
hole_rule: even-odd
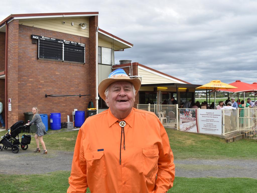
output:
[[[39,174],[58,170],[71,170],[73,152],[52,151],[47,155],[34,153],[34,148],[12,153],[0,152],[0,174]],[[257,160],[175,160],[176,176],[199,177],[247,177],[257,179]],[[19,168],[19,169],[18,169]],[[18,170],[17,170],[18,169]]]

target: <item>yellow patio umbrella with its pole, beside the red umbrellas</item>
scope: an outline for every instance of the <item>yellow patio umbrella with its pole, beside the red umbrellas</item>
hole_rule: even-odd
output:
[[[214,90],[214,109],[216,108],[216,90],[218,89],[237,89],[237,87],[221,82],[220,80],[213,80],[207,84],[197,87],[196,89],[212,89]]]

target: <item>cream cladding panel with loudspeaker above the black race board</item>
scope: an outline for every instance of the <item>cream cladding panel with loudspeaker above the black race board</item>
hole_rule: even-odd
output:
[[[65,22],[65,24],[62,24]],[[74,22],[74,25],[71,25]],[[86,23],[87,28],[81,29],[80,23]],[[20,20],[19,24],[27,25],[35,28],[47,29],[52,31],[58,31],[76,36],[89,37],[89,19],[84,18],[69,18],[69,19],[52,19],[52,20]]]

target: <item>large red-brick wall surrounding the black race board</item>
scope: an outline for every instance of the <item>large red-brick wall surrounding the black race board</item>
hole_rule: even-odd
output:
[[[91,96],[45,98],[45,94],[94,95],[88,86],[89,38],[15,24],[17,31],[10,25],[8,36],[8,66],[13,66],[8,68],[8,98],[12,98],[12,112],[8,111],[9,126],[24,120],[23,113],[31,111],[34,106],[38,107],[39,113],[48,114],[48,120],[50,113],[60,112],[61,122],[67,121],[67,115],[72,121],[73,109],[86,111]],[[31,34],[85,43],[85,64],[38,59],[38,45],[32,44]],[[16,41],[12,42],[11,37]]]

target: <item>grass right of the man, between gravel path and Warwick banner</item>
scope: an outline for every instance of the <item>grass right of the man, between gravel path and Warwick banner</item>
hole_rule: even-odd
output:
[[[166,128],[175,159],[257,159],[256,140],[226,143],[210,135],[175,131]]]

